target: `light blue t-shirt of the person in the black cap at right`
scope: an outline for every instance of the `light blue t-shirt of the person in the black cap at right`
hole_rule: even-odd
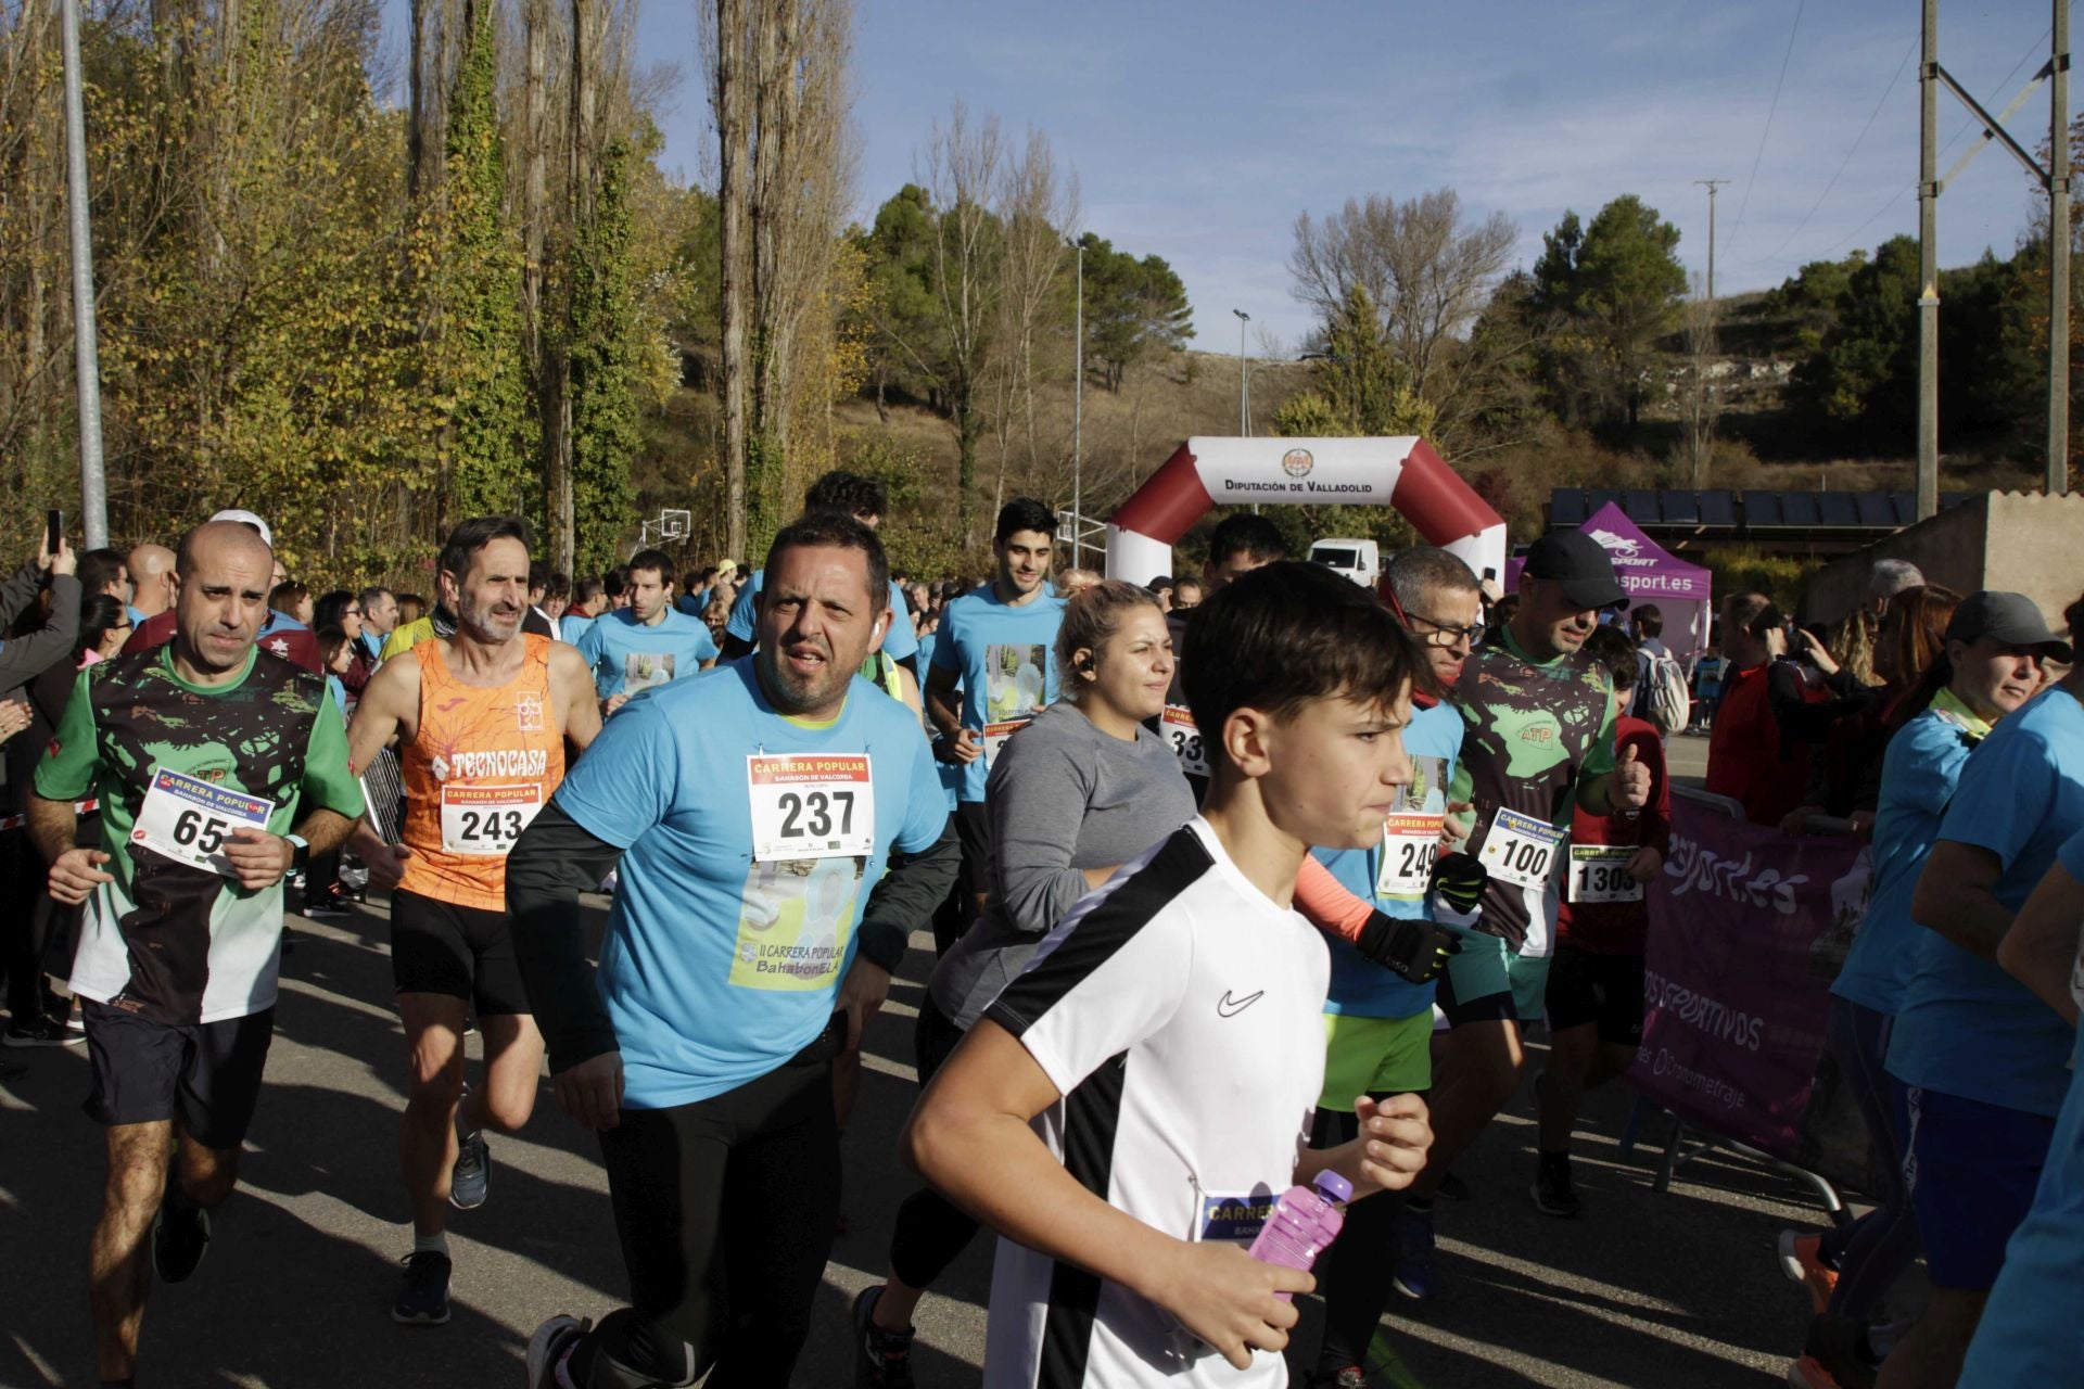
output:
[[[1917,875],[1926,870],[1940,816],[1974,748],[1974,729],[1942,708],[1928,708],[1888,739],[1882,804],[1874,812],[1874,891],[1867,893],[1867,920],[1830,987],[1838,997],[1888,1016],[1903,1006],[1926,935],[1911,920]]]

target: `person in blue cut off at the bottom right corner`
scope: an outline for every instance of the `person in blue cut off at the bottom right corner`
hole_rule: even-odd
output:
[[[2071,627],[2071,637],[2076,635]],[[1996,962],[2069,1027],[2084,1008],[2084,831],[2019,908]],[[2069,1095],[2055,1120],[2034,1208],[2005,1245],[2005,1270],[1961,1366],[1961,1389],[2059,1385],[2084,1364],[2084,1033],[2069,1056]]]

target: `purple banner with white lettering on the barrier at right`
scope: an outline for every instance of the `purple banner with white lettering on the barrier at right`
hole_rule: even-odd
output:
[[[1790,837],[1676,795],[1630,1083],[1686,1122],[1813,1166],[1830,981],[1865,914],[1867,862],[1857,839]]]

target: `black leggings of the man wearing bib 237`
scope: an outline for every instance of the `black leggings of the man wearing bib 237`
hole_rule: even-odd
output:
[[[573,1383],[786,1389],[840,1218],[836,1050],[827,1029],[756,1081],[625,1108],[600,1135],[631,1308],[579,1343]]]

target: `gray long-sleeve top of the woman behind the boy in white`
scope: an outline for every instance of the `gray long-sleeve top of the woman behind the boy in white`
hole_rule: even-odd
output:
[[[1052,704],[992,764],[992,891],[984,916],[942,958],[934,1004],[961,1029],[1034,958],[1090,891],[1084,868],[1123,864],[1194,818],[1180,760],[1150,729],[1136,741]]]

